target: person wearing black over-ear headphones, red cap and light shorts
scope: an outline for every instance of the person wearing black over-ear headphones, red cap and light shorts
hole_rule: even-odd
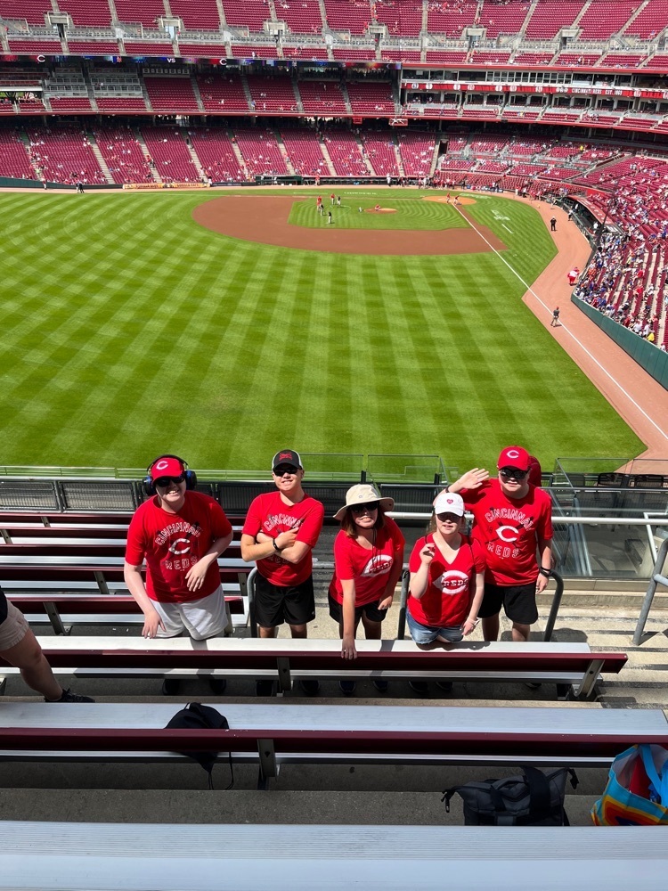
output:
[[[232,526],[196,485],[194,471],[174,454],[160,455],[146,470],[143,486],[151,497],[130,522],[125,565],[126,585],[144,614],[144,637],[175,637],[186,629],[203,641],[232,626],[217,563]]]

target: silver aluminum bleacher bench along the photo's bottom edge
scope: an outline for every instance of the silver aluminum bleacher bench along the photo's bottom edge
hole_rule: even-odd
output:
[[[656,830],[638,826],[12,821],[0,837],[2,891],[442,891],[444,875],[457,891],[664,891],[668,872]]]

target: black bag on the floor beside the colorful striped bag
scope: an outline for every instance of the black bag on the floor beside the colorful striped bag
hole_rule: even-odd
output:
[[[442,801],[450,813],[450,799],[459,793],[464,799],[467,826],[568,826],[564,810],[566,777],[573,789],[577,776],[570,767],[543,773],[535,767],[522,767],[524,776],[504,780],[468,782],[445,789]]]

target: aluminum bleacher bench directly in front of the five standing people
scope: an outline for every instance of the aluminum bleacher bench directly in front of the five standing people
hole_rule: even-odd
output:
[[[553,683],[561,698],[591,696],[601,672],[618,673],[624,653],[591,652],[586,643],[462,642],[420,650],[412,641],[358,641],[358,657],[341,658],[340,641],[142,637],[38,638],[58,674],[79,677],[241,677],[289,691],[294,678],[381,678]],[[4,663],[0,658],[0,666]],[[0,667],[0,677],[16,669]]]

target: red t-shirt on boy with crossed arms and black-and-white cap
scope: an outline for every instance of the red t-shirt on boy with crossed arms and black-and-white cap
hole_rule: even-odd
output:
[[[243,524],[241,535],[251,535],[255,538],[258,532],[271,535],[275,538],[281,532],[287,532],[298,526],[297,542],[304,542],[314,548],[322,529],[322,520],[325,509],[322,502],[316,501],[311,495],[305,495],[297,504],[286,504],[280,492],[267,492],[265,495],[257,495],[254,498],[246,522]],[[302,584],[313,571],[313,558],[309,551],[298,563],[290,563],[283,560],[277,553],[269,557],[257,560],[257,571],[272,584],[281,588],[288,588],[295,584]]]

